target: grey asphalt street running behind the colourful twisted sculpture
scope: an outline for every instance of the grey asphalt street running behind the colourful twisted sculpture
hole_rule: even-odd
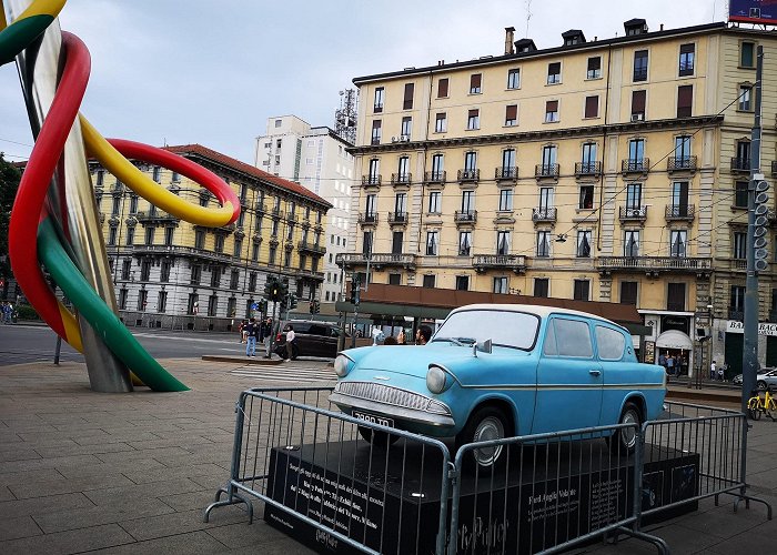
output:
[[[204,354],[244,355],[238,333],[138,330],[133,335],[158,359],[199,359]],[[27,362],[53,362],[57,335],[41,325],[0,325],[0,366]],[[61,361],[83,362],[83,356],[62,342]]]

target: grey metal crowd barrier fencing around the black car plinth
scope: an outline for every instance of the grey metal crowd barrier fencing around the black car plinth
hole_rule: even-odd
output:
[[[205,521],[232,504],[244,504],[251,521],[253,497],[265,519],[312,527],[330,547],[456,555],[557,553],[619,535],[668,554],[643,527],[706,497],[717,504],[722,494],[737,497],[735,511],[739,502],[764,503],[771,518],[771,506],[747,494],[747,421],[735,411],[667,402],[659,420],[642,426],[473,443],[451,461],[440,441],[336,412],[331,391],[241,394],[231,477]],[[622,433],[635,437],[630,450],[615,441]],[[475,450],[496,448],[504,452],[493,471],[474,463]]]

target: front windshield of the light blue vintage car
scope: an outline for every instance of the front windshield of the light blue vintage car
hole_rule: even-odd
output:
[[[495,346],[529,351],[537,336],[539,316],[525,312],[468,310],[451,314],[433,342],[472,344],[491,340]]]

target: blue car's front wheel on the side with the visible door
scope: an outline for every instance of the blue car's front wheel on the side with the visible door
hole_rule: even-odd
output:
[[[502,440],[513,436],[513,424],[504,412],[495,406],[475,411],[464,428],[456,435],[456,450],[468,443]],[[468,450],[464,465],[472,472],[491,474],[502,468],[507,460],[509,445]]]

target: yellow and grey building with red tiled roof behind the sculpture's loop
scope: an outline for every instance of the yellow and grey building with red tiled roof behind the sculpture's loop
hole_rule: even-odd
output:
[[[269,275],[289,280],[303,302],[323,282],[330,203],[297,183],[199,144],[165,148],[224,179],[241,202],[236,222],[193,225],[139,198],[90,162],[120,314],[128,325],[231,330],[259,315]],[[135,164],[160,185],[201,206],[216,199],[179,173]],[[272,312],[273,303],[270,303]]]

